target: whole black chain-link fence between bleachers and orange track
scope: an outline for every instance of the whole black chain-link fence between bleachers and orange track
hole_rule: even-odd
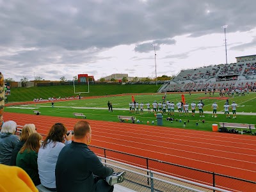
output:
[[[179,164],[173,164],[156,159],[135,156],[124,152],[118,152],[116,150],[109,150],[95,146],[90,146],[90,148],[100,157],[113,159],[120,163],[127,163],[131,166],[151,170],[152,172],[157,172],[159,174],[171,175],[172,177],[178,177],[179,179],[189,180],[198,184],[225,189],[227,191],[256,191],[256,182],[250,180],[238,179],[236,177],[229,177],[227,175],[221,175],[218,173],[206,172],[195,168],[189,168],[187,166],[180,166]],[[127,182],[124,182],[124,185],[129,185],[128,188],[135,191],[151,191],[152,180],[149,178],[149,173],[147,171],[143,171],[141,174],[145,174],[147,177],[141,177],[137,173],[127,173]],[[154,177],[156,176],[154,175]],[[159,176],[159,178],[161,179],[163,176]],[[174,186],[166,182],[173,182],[171,179],[163,180],[154,179],[154,191],[190,190],[180,188],[179,186]],[[175,183],[179,182],[175,180]],[[189,188],[191,188],[191,184],[186,184],[184,186],[189,186]],[[202,191],[207,190],[204,189]]]

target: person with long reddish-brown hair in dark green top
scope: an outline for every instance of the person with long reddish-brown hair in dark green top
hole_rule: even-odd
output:
[[[20,148],[16,158],[16,165],[28,173],[35,186],[40,184],[37,166],[37,155],[41,140],[42,136],[39,133],[31,133],[23,147]]]

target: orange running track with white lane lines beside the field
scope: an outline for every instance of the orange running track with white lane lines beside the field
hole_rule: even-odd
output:
[[[78,119],[4,112],[4,120],[14,120],[18,125],[33,123],[38,132],[46,134],[56,122],[61,122],[68,130],[72,130]],[[91,145],[256,181],[255,136],[97,120],[88,122],[92,127]],[[122,160],[132,161],[127,156]],[[142,166],[145,162],[137,164]],[[207,178],[209,175],[205,176],[205,173],[191,171],[191,175],[189,170],[161,166],[152,164],[150,169],[180,175],[183,178],[193,178],[205,184],[212,183],[212,178]],[[217,187],[224,186],[225,189],[232,191],[256,191],[255,184],[243,186],[244,184],[232,183],[223,177],[216,179]]]

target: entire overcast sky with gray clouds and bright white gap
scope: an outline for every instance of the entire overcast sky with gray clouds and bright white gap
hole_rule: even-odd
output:
[[[0,0],[0,72],[20,81],[177,74],[256,54],[255,0]]]

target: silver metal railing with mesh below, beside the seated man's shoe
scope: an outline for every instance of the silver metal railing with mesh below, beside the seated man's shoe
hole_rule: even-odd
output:
[[[171,175],[154,172],[131,164],[122,163],[112,159],[99,157],[106,166],[112,167],[118,172],[126,172],[126,180],[120,184],[125,188],[136,191],[221,191],[228,192],[225,189],[215,188],[191,180],[180,179]],[[147,173],[147,174],[146,174]]]

